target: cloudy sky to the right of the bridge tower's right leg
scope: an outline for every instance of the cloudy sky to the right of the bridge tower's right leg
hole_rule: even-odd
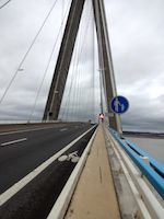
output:
[[[126,129],[164,132],[163,10],[163,0],[106,0],[118,94],[130,102]]]

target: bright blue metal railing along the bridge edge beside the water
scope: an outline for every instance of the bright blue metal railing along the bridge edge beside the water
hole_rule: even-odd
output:
[[[157,193],[164,198],[164,165],[152,158],[148,152],[141,150],[137,145],[128,139],[121,139],[117,131],[109,129],[110,134],[119,142],[119,145],[126,150],[136,165],[140,169],[142,174],[149,180]],[[143,157],[149,158],[149,163],[143,161]]]

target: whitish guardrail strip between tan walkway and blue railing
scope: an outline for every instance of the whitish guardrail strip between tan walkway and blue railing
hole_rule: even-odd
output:
[[[106,135],[108,136],[116,157],[118,158],[118,162],[122,170],[121,173],[126,176],[137,204],[133,218],[138,215],[144,219],[163,219],[164,203],[162,198],[160,196],[156,197],[157,194],[154,194],[152,187],[150,187],[143,177],[142,172],[137,168],[136,163],[132,162],[132,159],[127,154],[125,148],[120,147],[120,142],[117,140],[120,139],[119,135],[115,130],[108,131],[108,128],[106,129]],[[125,139],[122,141],[125,141]]]

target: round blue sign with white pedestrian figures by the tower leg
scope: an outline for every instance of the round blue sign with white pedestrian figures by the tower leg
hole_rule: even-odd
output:
[[[126,113],[129,108],[129,102],[125,96],[115,96],[110,102],[110,110],[114,113],[122,114]]]

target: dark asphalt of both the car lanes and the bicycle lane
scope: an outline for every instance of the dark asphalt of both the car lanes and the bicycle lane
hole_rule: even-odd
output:
[[[1,135],[1,192],[85,132],[91,125],[66,126]],[[80,158],[95,128],[77,141],[63,155],[77,151]],[[16,137],[16,138],[15,138]],[[26,138],[26,140],[25,140]],[[15,141],[24,139],[22,141]],[[8,142],[11,142],[8,145]],[[55,160],[40,174],[0,207],[3,219],[46,219],[77,162]],[[4,169],[4,170],[3,170]]]

